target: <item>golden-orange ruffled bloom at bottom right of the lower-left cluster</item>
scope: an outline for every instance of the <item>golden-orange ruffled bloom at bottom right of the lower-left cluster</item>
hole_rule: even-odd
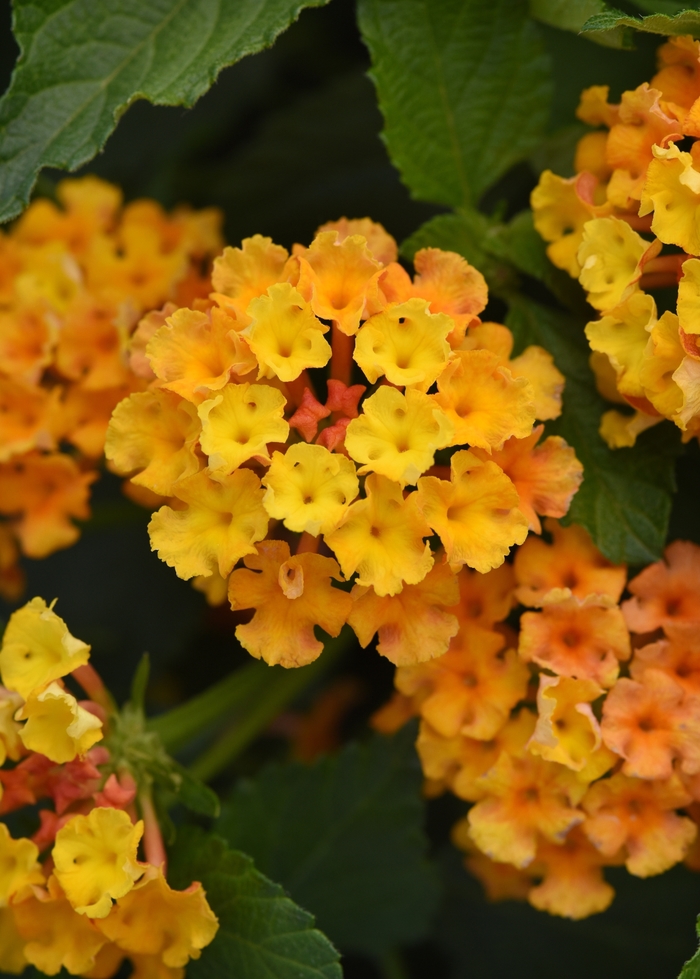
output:
[[[200,957],[219,923],[200,883],[174,891],[161,868],[151,867],[98,927],[127,954],[157,955],[169,969],[181,969]]]

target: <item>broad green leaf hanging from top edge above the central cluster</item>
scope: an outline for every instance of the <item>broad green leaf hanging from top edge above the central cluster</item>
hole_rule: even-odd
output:
[[[549,58],[525,0],[360,0],[384,139],[419,200],[476,203],[539,142]]]

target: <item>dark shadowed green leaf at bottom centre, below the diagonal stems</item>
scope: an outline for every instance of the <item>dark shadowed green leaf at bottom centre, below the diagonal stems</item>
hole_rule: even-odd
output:
[[[313,911],[343,952],[418,941],[435,910],[414,741],[411,725],[313,766],[270,766],[223,806],[217,831]]]

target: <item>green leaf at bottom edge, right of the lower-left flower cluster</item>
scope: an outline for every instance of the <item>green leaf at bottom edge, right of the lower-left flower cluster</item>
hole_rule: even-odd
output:
[[[188,979],[342,979],[338,953],[313,917],[218,837],[181,829],[168,878],[180,889],[201,881],[219,919],[214,941],[187,966]]]

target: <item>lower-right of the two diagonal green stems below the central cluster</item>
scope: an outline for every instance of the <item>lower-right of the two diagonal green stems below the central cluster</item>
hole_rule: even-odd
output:
[[[190,772],[206,782],[224,771],[269,726],[281,710],[335,664],[353,638],[352,630],[345,626],[337,639],[326,642],[323,653],[309,666],[296,669],[276,666],[268,669],[268,684],[264,696],[195,759],[190,765]]]

